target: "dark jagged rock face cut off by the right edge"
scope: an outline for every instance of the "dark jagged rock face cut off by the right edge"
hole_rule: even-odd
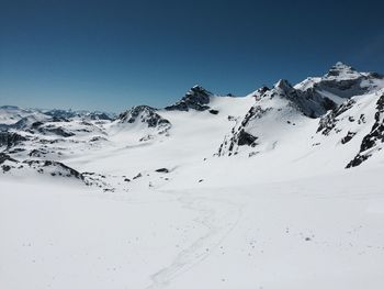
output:
[[[376,113],[374,119],[375,123],[373,124],[371,132],[363,137],[358,155],[347,165],[347,168],[357,167],[362,164],[372,156],[372,149],[374,149],[380,143],[384,143],[384,95],[382,95],[376,102]]]

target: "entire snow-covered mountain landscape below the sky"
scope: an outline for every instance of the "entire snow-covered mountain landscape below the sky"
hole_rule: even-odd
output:
[[[2,107],[0,129],[0,288],[384,282],[379,74],[118,116]]]

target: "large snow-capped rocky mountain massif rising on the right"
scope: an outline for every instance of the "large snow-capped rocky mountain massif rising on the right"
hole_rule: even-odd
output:
[[[340,163],[343,162],[341,166],[360,165],[362,162],[355,159],[359,152],[358,159],[368,158],[360,154],[373,154],[368,153],[368,147],[363,145],[360,148],[371,138],[373,131],[375,141],[372,141],[374,144],[370,148],[374,146],[374,151],[381,151],[377,141],[381,137],[380,129],[376,131],[376,126],[381,125],[381,114],[380,105],[375,103],[384,93],[383,84],[383,77],[379,74],[358,73],[341,63],[324,77],[308,78],[294,87],[286,80],[280,80],[273,88],[263,89],[256,96],[255,104],[225,137],[218,155],[231,156],[246,152],[253,156],[279,152],[279,147],[286,145],[285,135],[301,135],[303,143],[316,147],[309,149],[316,151],[310,154],[328,152],[328,158],[335,160],[349,152],[349,158],[340,159]],[[315,127],[302,135],[304,126],[310,127],[313,123]],[[318,134],[331,136],[323,140]],[[352,137],[353,142],[347,144]],[[329,145],[329,142],[335,148],[324,145]],[[343,153],[334,154],[339,148]],[[292,145],[291,154],[295,153],[297,151]]]

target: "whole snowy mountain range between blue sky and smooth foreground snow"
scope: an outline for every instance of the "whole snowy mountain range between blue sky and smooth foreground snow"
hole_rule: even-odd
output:
[[[143,159],[132,165],[137,174],[155,166],[146,164],[148,156],[158,157],[154,162],[165,171],[171,169],[169,164],[204,159],[206,166],[230,157],[238,159],[227,160],[231,167],[241,169],[247,162],[247,167],[285,174],[374,166],[384,162],[383,147],[384,77],[342,63],[321,77],[296,85],[281,79],[245,97],[194,86],[163,109],[138,105],[120,115],[0,107],[3,174],[48,171],[45,175],[75,176],[105,189],[115,189],[103,180],[105,171],[83,171],[76,165],[79,158],[136,149]]]

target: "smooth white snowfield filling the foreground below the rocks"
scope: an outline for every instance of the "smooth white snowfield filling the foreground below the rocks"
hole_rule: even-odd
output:
[[[382,171],[127,193],[2,180],[0,287],[381,288]]]

